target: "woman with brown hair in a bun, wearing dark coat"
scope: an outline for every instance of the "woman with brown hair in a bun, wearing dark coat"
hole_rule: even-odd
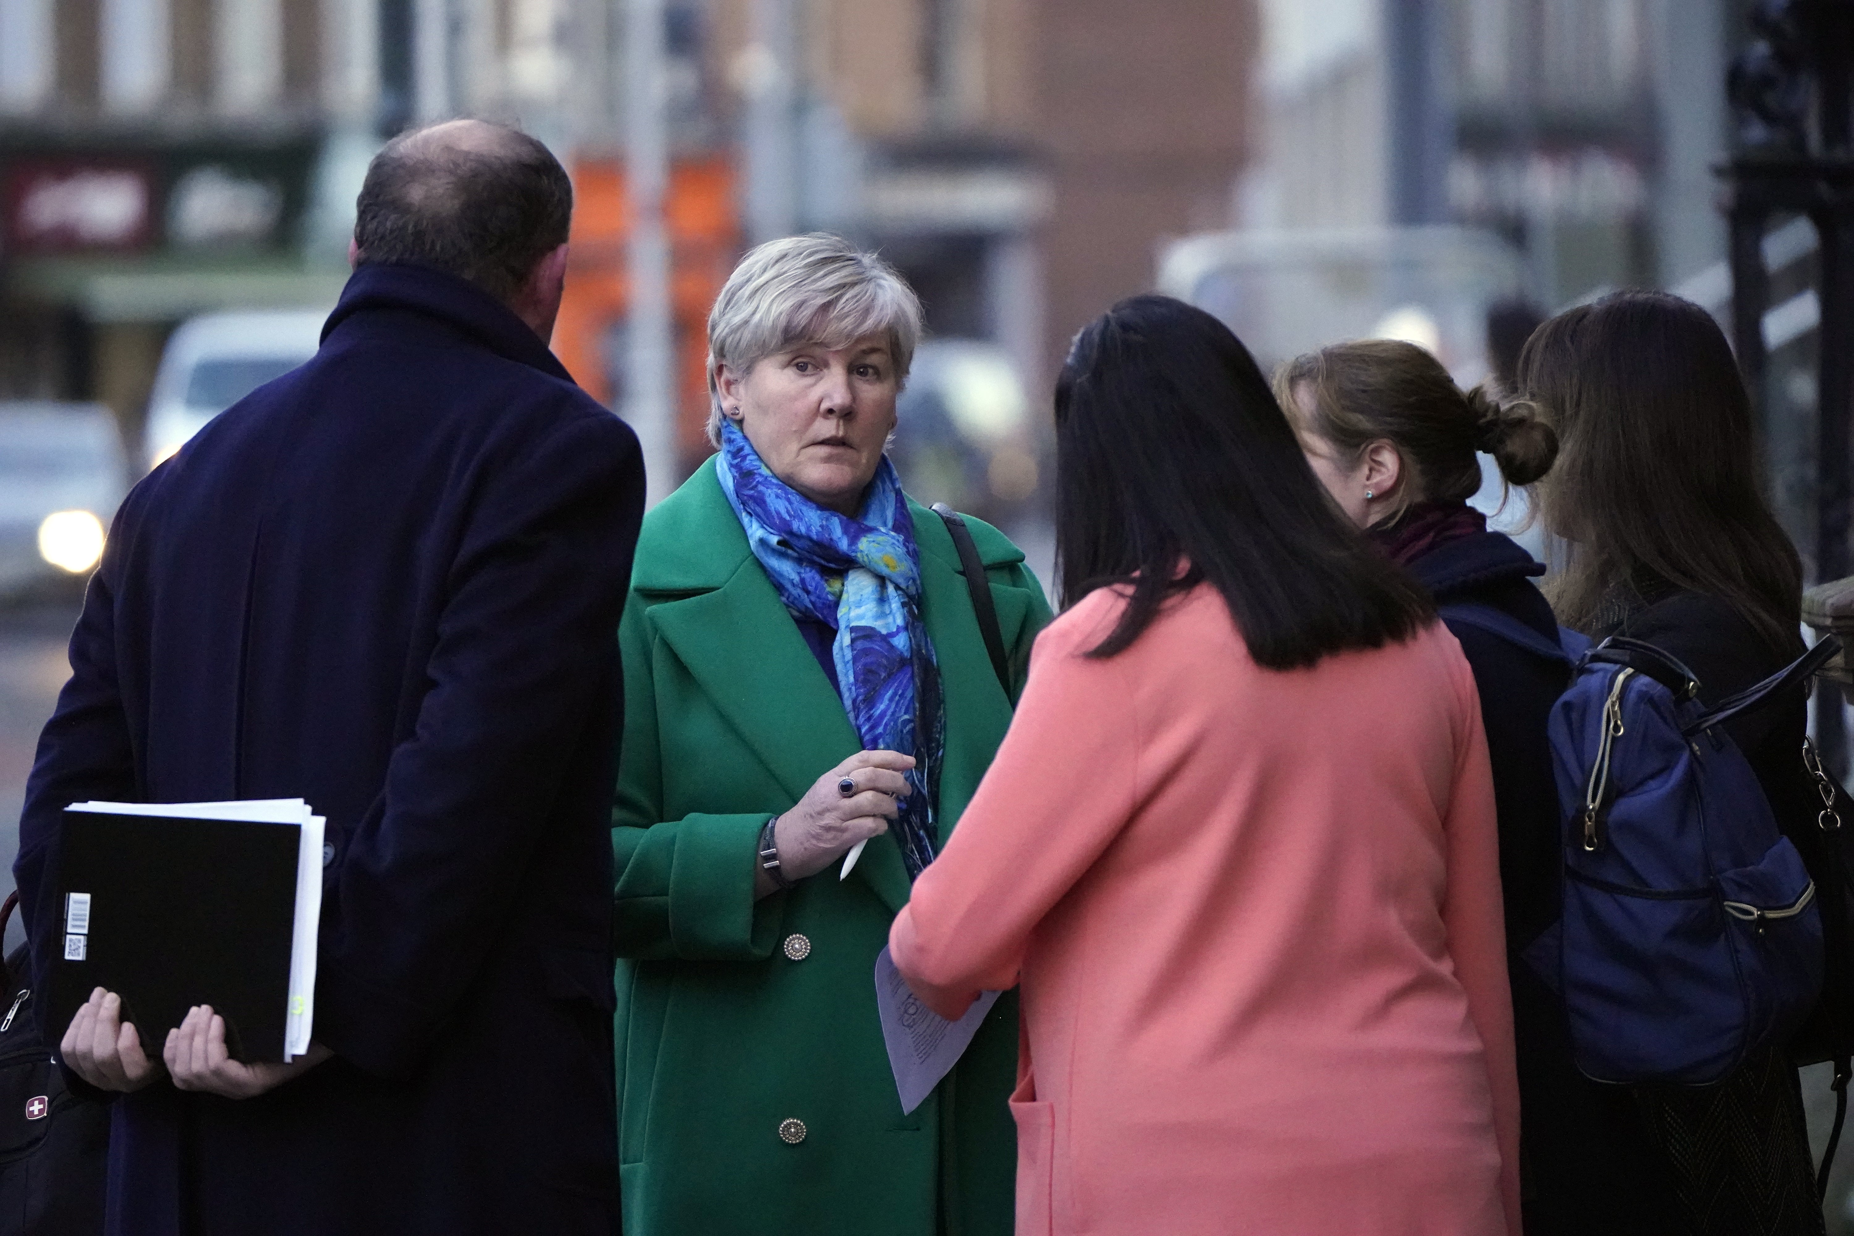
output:
[[[1557,788],[1544,726],[1568,671],[1472,621],[1472,610],[1483,619],[1498,610],[1557,641],[1552,606],[1533,584],[1544,567],[1468,506],[1481,486],[1478,452],[1494,458],[1507,484],[1526,486],[1552,467],[1557,434],[1530,404],[1461,391],[1433,356],[1389,339],[1283,365],[1276,397],[1333,502],[1429,589],[1474,669],[1500,817],[1526,1234],[1670,1230],[1665,1169],[1643,1151],[1633,1104],[1578,1073],[1563,1004],[1522,960],[1559,915]]]

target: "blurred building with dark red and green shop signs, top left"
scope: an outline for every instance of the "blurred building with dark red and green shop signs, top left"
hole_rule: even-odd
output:
[[[567,132],[562,0],[0,0],[0,397],[133,441],[200,311],[328,308],[382,133]]]

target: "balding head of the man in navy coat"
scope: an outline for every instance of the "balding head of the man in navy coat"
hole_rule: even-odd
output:
[[[512,300],[567,239],[573,182],[527,133],[445,120],[375,156],[354,221],[356,261],[408,263]]]

